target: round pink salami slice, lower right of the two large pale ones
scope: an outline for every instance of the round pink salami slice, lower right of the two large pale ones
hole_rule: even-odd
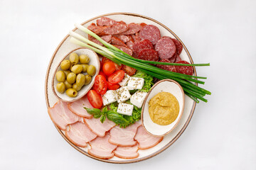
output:
[[[176,46],[170,38],[161,38],[155,46],[160,59],[169,59],[176,53]]]

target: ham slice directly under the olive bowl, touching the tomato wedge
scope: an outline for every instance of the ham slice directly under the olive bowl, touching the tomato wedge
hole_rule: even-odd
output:
[[[72,111],[76,115],[80,115],[85,118],[92,118],[92,115],[90,113],[87,113],[84,107],[93,108],[88,101],[87,95],[80,98],[78,101],[74,101],[68,104],[68,108],[70,109],[70,111]]]

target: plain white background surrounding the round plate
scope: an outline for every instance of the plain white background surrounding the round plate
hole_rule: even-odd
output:
[[[256,1],[0,1],[0,169],[256,169]],[[92,17],[132,12],[164,23],[185,43],[213,94],[183,135],[135,164],[90,159],[63,140],[46,108],[48,62]]]

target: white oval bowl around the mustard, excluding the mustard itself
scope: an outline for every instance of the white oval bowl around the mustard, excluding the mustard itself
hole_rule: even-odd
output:
[[[149,116],[150,99],[156,96],[156,94],[163,91],[173,94],[177,98],[179,104],[178,117],[176,118],[176,120],[174,120],[173,123],[169,125],[158,125],[154,123]],[[149,94],[146,95],[146,98],[142,106],[142,125],[146,132],[154,136],[164,136],[171,132],[172,130],[174,130],[176,125],[178,125],[178,122],[183,114],[184,103],[184,91],[181,85],[178,84],[176,81],[171,79],[164,79],[154,84],[154,86],[151,88],[151,91],[149,91]]]

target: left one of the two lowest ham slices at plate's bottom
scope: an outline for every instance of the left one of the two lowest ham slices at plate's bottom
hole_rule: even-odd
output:
[[[117,145],[112,145],[108,140],[110,135],[107,133],[105,137],[97,137],[95,140],[89,143],[91,149],[88,149],[88,154],[100,158],[110,159],[114,157],[113,150]]]

